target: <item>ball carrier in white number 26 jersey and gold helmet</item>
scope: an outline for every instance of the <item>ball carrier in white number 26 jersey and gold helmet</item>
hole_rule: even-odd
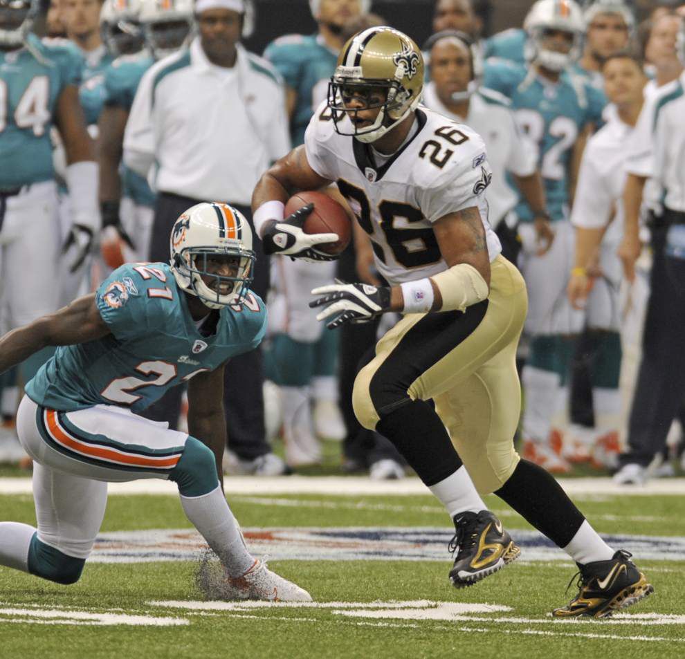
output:
[[[403,314],[358,373],[354,410],[396,445],[455,521],[453,584],[471,585],[518,556],[480,498],[495,492],[581,566],[578,596],[555,615],[608,615],[651,586],[551,474],[515,452],[525,285],[487,220],[482,139],[421,106],[421,91],[423,57],[412,39],[387,27],[352,37],[304,146],[259,180],[255,225],[267,252],[325,258],[317,245],[335,234],[305,234],[307,207],[284,218],[283,204],[298,189],[336,181],[369,234],[390,286],[338,282],[313,290],[320,297],[311,304],[324,307],[318,319],[329,328]]]

